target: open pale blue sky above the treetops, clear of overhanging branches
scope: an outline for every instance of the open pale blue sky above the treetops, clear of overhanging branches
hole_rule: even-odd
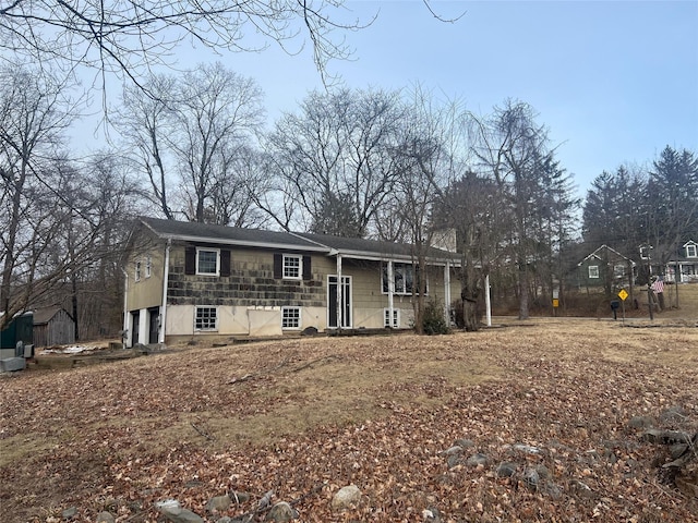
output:
[[[351,87],[421,83],[469,110],[530,104],[580,195],[603,170],[642,165],[670,145],[698,153],[696,1],[346,2],[369,27],[347,35],[352,61],[332,62]],[[276,48],[221,61],[254,77],[269,120],[322,83],[310,56]]]

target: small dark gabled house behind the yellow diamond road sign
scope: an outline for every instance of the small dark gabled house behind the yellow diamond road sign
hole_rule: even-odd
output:
[[[577,267],[580,288],[603,288],[609,293],[621,288],[631,289],[636,276],[636,263],[607,245],[601,245]]]

